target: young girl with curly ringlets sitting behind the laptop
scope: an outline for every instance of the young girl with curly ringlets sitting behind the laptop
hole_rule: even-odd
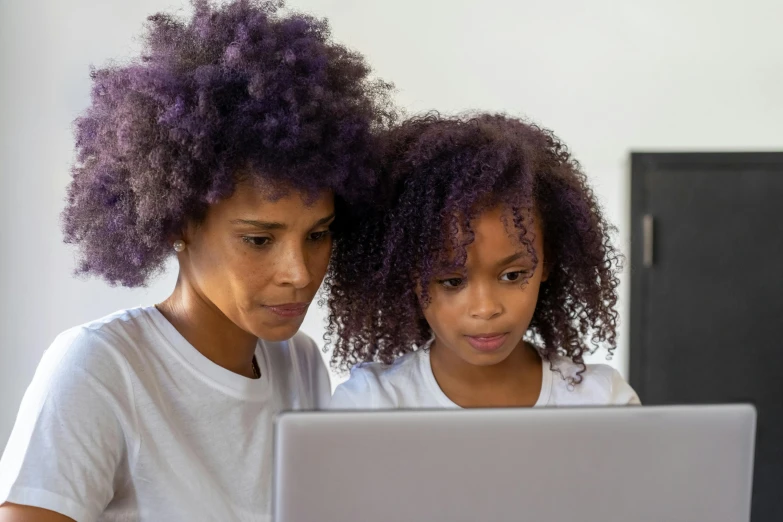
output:
[[[385,208],[354,219],[330,278],[332,408],[638,404],[584,356],[616,346],[618,255],[548,131],[499,115],[387,137]]]

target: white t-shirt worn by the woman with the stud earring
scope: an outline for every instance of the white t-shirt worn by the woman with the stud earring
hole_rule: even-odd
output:
[[[0,460],[0,504],[88,521],[268,521],[278,412],[329,400],[302,333],[259,341],[260,379],[218,366],[155,308],[73,328],[46,351]]]

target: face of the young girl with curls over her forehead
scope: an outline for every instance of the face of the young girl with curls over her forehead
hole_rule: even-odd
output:
[[[534,266],[519,231],[507,228],[513,221],[505,212],[488,210],[471,223],[475,240],[465,266],[435,272],[423,309],[439,349],[476,366],[498,364],[520,344],[547,277],[541,227],[528,227],[538,257]]]

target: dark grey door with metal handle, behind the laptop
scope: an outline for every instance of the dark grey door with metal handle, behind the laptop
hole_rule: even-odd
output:
[[[752,520],[783,521],[783,153],[633,154],[631,213],[631,384],[753,402]]]

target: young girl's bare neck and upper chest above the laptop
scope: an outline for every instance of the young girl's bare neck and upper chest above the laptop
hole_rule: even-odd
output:
[[[541,393],[541,356],[524,341],[502,362],[477,366],[439,346],[436,339],[430,362],[443,393],[463,408],[533,406]]]

